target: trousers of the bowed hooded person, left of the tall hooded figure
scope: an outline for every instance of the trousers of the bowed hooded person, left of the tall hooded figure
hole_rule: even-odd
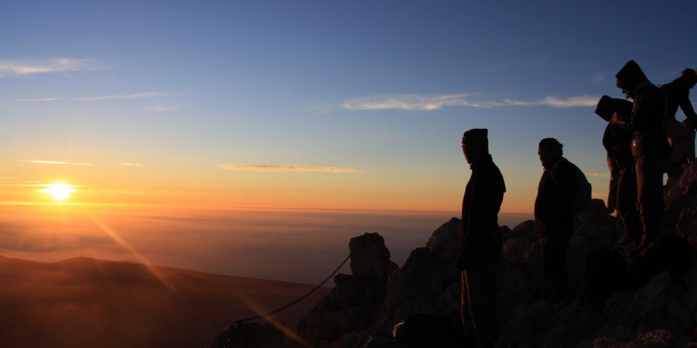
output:
[[[620,169],[617,188],[617,216],[625,226],[627,238],[636,246],[641,244],[643,228],[638,212],[636,211],[636,175],[633,166],[625,166]]]

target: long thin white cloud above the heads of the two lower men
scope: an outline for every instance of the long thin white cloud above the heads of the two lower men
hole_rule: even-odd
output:
[[[445,106],[470,106],[476,108],[493,108],[501,106],[553,106],[558,108],[576,106],[595,106],[600,97],[581,95],[577,97],[559,98],[544,97],[542,100],[523,101],[505,99],[500,101],[476,101],[470,100],[473,94],[457,95],[413,95],[413,94],[386,94],[358,97],[342,104],[344,108],[351,110],[381,110],[400,109],[430,111],[438,110]]]

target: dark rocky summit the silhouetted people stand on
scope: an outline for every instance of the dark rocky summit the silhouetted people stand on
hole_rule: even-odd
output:
[[[664,196],[664,236],[635,258],[627,256],[634,245],[622,239],[622,223],[602,200],[577,216],[562,303],[543,299],[535,223],[502,226],[496,347],[697,347],[697,162],[668,181]],[[336,286],[300,320],[297,333],[256,346],[237,342],[261,340],[219,340],[210,348],[468,347],[460,337],[461,277],[454,267],[459,226],[456,218],[443,223],[401,267],[380,235],[355,237],[352,274],[335,276]],[[394,330],[413,335],[397,342]],[[240,327],[225,334],[262,332]]]

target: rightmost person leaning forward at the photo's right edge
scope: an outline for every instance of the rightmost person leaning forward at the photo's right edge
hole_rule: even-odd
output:
[[[666,136],[671,142],[671,160],[668,161],[669,176],[680,175],[680,165],[684,161],[694,160],[695,132],[697,115],[690,102],[690,89],[697,83],[697,74],[692,69],[682,70],[682,74],[670,84],[661,87],[666,96],[668,120],[666,120]],[[687,116],[685,122],[678,122],[675,113],[680,106]]]

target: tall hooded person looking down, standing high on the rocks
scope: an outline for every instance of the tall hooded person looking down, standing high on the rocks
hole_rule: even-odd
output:
[[[628,61],[615,75],[617,86],[634,101],[629,116],[631,155],[634,156],[636,193],[641,217],[641,252],[661,232],[663,219],[663,173],[670,154],[664,125],[665,98],[639,65]]]

